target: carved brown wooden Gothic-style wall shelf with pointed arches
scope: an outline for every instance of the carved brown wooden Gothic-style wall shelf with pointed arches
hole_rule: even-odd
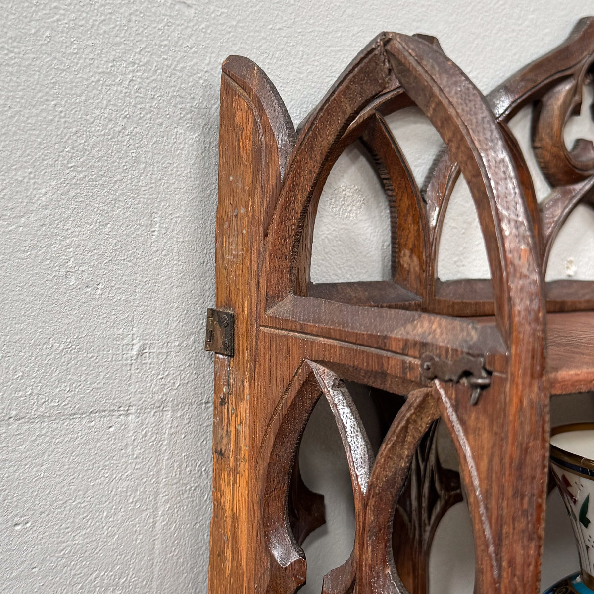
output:
[[[462,492],[475,591],[538,592],[549,397],[594,389],[594,283],[544,282],[558,230],[594,196],[592,143],[568,150],[563,136],[593,62],[594,21],[583,19],[484,96],[434,38],[383,33],[296,131],[260,68],[238,56],[223,64],[219,313],[207,347],[233,355],[215,356],[211,594],[289,594],[304,583],[301,544],[324,522],[324,504],[301,479],[298,448],[321,396],[342,437],[356,513],[352,555],[323,592],[424,594],[435,529]],[[410,105],[446,146],[421,189],[384,119]],[[507,126],[524,106],[552,188],[541,203]],[[356,140],[390,206],[392,278],[314,285],[318,200]],[[441,282],[441,228],[460,172],[491,279]],[[345,381],[380,390],[384,412],[393,409],[377,453]],[[438,420],[459,475],[440,465]]]

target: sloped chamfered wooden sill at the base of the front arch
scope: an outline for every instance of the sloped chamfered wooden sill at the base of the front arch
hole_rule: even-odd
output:
[[[463,318],[440,318],[424,312],[357,307],[289,295],[268,310],[263,326],[291,330],[370,346],[418,358],[469,353],[484,355],[492,371],[502,371],[506,347],[494,320],[477,323]],[[503,366],[503,367],[502,367]]]

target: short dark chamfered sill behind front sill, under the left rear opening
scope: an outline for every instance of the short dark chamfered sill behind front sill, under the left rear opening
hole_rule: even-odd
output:
[[[349,305],[419,309],[421,297],[391,280],[361,280],[348,283],[315,283],[308,295]]]

